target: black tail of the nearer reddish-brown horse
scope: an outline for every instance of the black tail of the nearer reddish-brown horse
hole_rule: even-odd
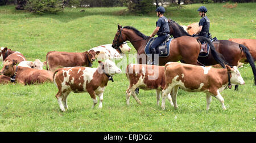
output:
[[[220,65],[221,65],[222,68],[226,68],[226,66],[225,66],[225,63],[226,63],[225,60],[220,57],[220,54],[217,53],[217,51],[215,50],[215,47],[213,46],[212,42],[210,42],[210,40],[209,40],[207,37],[199,36],[199,37],[196,37],[196,40],[204,40],[204,41],[206,41],[206,42],[209,44],[209,46],[210,46],[210,52],[212,53],[213,58],[214,58],[218,63],[220,63]]]

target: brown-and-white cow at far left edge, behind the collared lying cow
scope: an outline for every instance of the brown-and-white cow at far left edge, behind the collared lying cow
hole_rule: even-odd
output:
[[[0,53],[0,61],[6,61],[6,60],[17,60],[18,63],[26,60],[24,55],[19,53],[18,51],[12,51],[11,49],[7,49],[7,47],[1,47],[1,53]]]

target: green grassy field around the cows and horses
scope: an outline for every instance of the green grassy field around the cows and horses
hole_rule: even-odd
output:
[[[256,3],[238,3],[234,9],[223,5],[205,5],[213,37],[255,39]],[[188,25],[200,20],[196,11],[199,6],[168,7],[165,16]],[[27,60],[44,61],[48,51],[82,52],[111,44],[118,23],[133,26],[149,36],[158,19],[154,11],[146,16],[122,15],[125,7],[84,8],[85,12],[81,9],[65,8],[58,15],[40,16],[16,11],[14,6],[1,6],[0,46],[20,51]],[[136,53],[129,46],[131,53]],[[142,105],[131,97],[127,106],[125,91],[129,83],[123,73],[108,83],[103,109],[91,109],[93,101],[88,93],[71,93],[69,110],[64,113],[55,98],[57,88],[53,83],[1,85],[0,131],[256,131],[253,73],[249,64],[239,70],[246,85],[240,86],[238,92],[233,87],[221,93],[225,111],[215,98],[206,111],[204,93],[183,90],[178,93],[177,110],[170,103],[166,103],[164,111],[157,106],[154,90],[140,90],[138,98]]]

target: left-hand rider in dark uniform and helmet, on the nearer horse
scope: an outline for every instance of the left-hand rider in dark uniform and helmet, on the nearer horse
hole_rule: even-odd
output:
[[[156,54],[156,47],[158,47],[166,38],[169,36],[170,29],[168,25],[168,20],[166,17],[163,16],[164,12],[164,7],[159,6],[156,8],[156,15],[159,17],[158,21],[156,22],[156,28],[153,31],[153,33],[150,35],[150,37],[154,37],[155,34],[158,35],[158,37],[154,40],[154,42],[151,45],[151,53],[152,53],[152,63],[148,64],[155,64],[154,62],[154,54]]]

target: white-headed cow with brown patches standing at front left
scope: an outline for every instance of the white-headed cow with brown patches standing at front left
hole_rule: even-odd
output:
[[[70,92],[88,92],[93,99],[93,107],[97,103],[97,95],[100,98],[99,108],[102,108],[105,87],[109,80],[113,81],[112,76],[121,70],[109,59],[105,63],[99,60],[98,63],[98,68],[67,67],[59,68],[53,73],[53,81],[59,89],[56,98],[61,111],[68,109],[67,97]]]

